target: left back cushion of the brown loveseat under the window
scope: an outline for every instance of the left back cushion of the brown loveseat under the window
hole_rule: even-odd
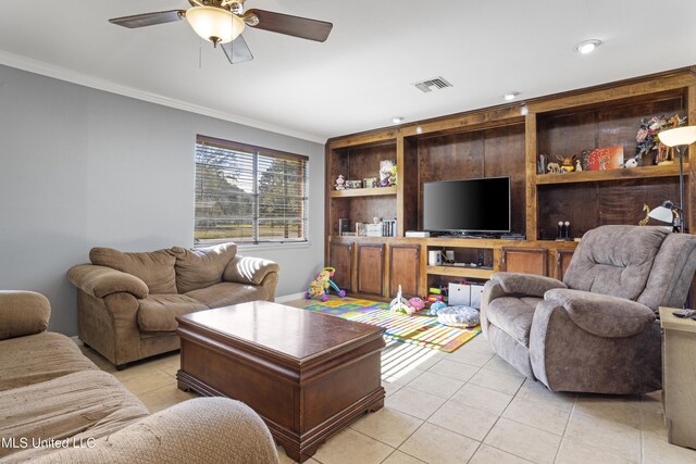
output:
[[[99,266],[133,274],[148,286],[150,293],[176,293],[176,258],[171,250],[125,253],[96,247],[89,252],[89,260]]]

